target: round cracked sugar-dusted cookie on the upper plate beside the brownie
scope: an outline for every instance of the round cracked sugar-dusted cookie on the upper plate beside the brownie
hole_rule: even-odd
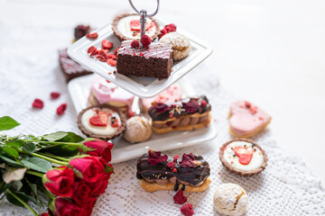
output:
[[[174,60],[181,60],[190,54],[190,40],[178,32],[163,35],[159,42],[172,45]]]

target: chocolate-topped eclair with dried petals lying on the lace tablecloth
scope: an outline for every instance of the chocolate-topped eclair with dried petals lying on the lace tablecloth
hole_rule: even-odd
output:
[[[136,177],[147,192],[188,191],[203,192],[209,188],[209,163],[201,156],[183,154],[162,156],[150,149],[137,161]]]

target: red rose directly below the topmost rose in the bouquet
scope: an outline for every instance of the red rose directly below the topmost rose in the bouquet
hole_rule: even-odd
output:
[[[70,160],[69,166],[77,169],[82,179],[88,183],[100,181],[105,177],[104,166],[95,157],[82,157]]]

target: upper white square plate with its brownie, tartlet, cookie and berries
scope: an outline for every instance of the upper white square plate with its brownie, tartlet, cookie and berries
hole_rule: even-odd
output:
[[[112,23],[74,42],[68,55],[129,93],[148,98],[181,79],[212,53],[206,42],[152,17],[146,19],[147,38],[143,41],[148,45],[144,46],[138,41],[140,27],[139,15],[117,15]],[[135,48],[133,40],[138,41]],[[109,54],[98,55],[99,49],[116,56],[112,60]]]

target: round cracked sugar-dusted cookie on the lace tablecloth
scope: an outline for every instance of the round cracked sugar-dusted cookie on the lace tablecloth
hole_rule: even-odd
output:
[[[248,196],[238,184],[220,184],[213,195],[214,207],[225,215],[242,215],[247,204]]]

